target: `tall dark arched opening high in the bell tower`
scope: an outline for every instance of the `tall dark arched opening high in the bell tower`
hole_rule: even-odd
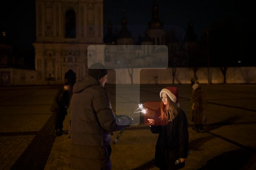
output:
[[[76,38],[76,15],[73,10],[65,14],[65,38]]]

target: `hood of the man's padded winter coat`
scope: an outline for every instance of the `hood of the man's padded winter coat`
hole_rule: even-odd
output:
[[[99,85],[99,81],[91,76],[85,76],[73,86],[73,93],[79,93],[89,86]]]

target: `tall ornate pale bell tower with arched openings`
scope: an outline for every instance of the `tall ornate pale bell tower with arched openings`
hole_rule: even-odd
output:
[[[103,0],[36,0],[37,84],[72,84],[87,73],[87,47],[103,44]]]

